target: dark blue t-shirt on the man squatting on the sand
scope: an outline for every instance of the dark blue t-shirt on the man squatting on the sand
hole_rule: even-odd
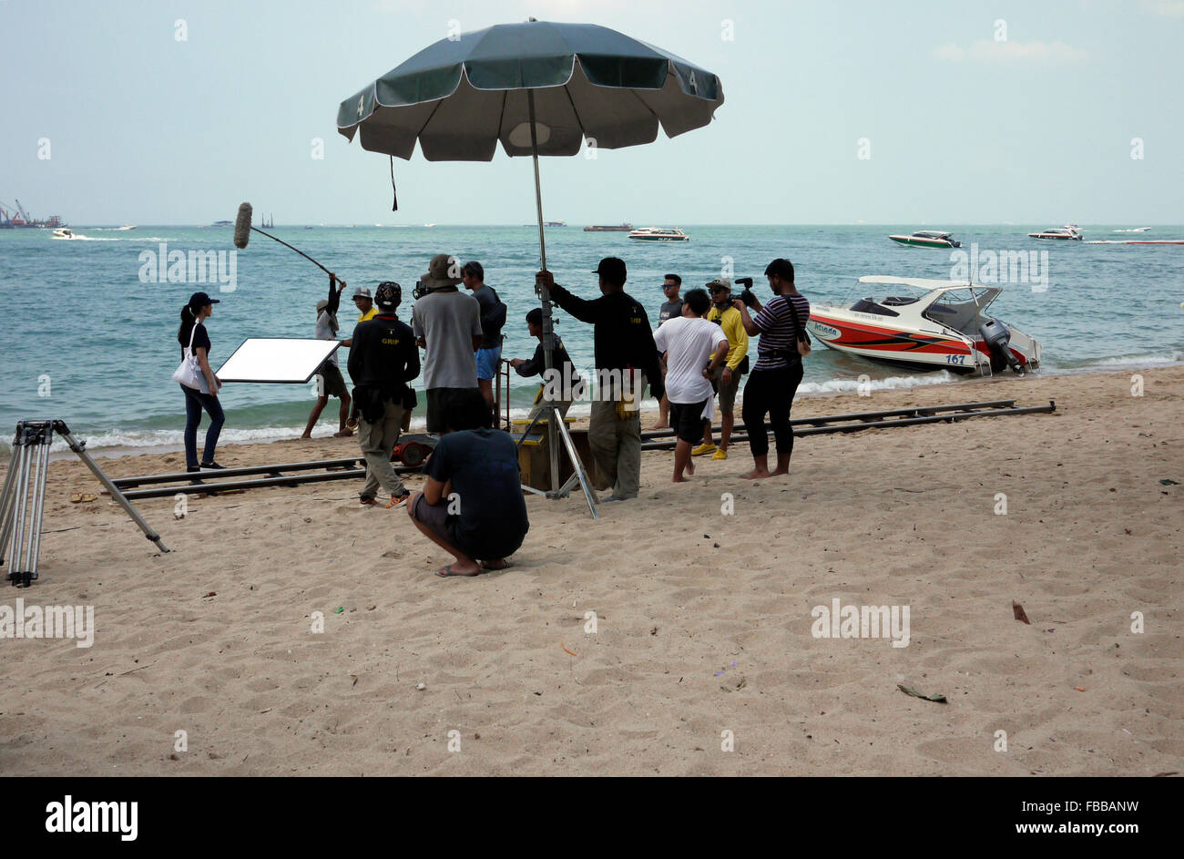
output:
[[[517,448],[508,432],[464,430],[442,436],[425,470],[442,483],[452,481],[456,498],[449,528],[459,549],[482,560],[506,558],[530,528],[519,475]]]

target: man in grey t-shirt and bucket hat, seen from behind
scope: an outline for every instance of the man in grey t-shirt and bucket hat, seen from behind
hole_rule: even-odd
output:
[[[456,287],[461,263],[437,254],[419,278],[411,308],[411,327],[424,350],[424,386],[427,389],[427,431],[446,432],[446,403],[461,391],[477,389],[477,358],[483,339],[481,305]]]

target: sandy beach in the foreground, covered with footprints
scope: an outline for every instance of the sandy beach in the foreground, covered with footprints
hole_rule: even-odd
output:
[[[472,579],[437,578],[446,557],[403,512],[360,507],[353,481],[191,498],[184,519],[140,501],[160,554],[105,496],[70,504],[99,487],[57,461],[41,578],[0,604],[92,605],[94,646],[0,639],[0,773],[1182,770],[1184,367],[1141,374],[1144,396],[1117,373],[799,398],[794,417],[1057,410],[799,438],[791,475],[759,482],[739,480],[746,444],[677,486],[673,454],[648,453],[642,496],[599,523],[578,496],[528,498],[514,566]],[[218,459],[356,453],[320,438]],[[908,645],[815,637],[834,600],[908,607]]]

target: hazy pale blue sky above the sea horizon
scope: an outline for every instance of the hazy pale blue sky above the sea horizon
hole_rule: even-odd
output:
[[[0,201],[73,224],[210,223],[242,200],[281,224],[530,223],[529,159],[417,152],[392,213],[386,156],[335,123],[453,20],[530,15],[664,47],[726,97],[674,140],[543,159],[548,219],[1184,220],[1184,0],[0,0]]]

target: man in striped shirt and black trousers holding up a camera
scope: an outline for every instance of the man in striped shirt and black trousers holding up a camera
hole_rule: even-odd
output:
[[[741,418],[748,434],[753,469],[744,479],[776,477],[790,473],[790,454],[793,453],[793,430],[790,429],[790,408],[793,395],[802,384],[802,355],[798,340],[806,340],[806,322],[810,320],[810,302],[793,286],[793,263],[778,257],[765,269],[773,297],[764,306],[748,293],[753,319],[748,306],[736,300],[733,306],[740,310],[740,320],[749,335],[760,335],[757,344],[757,364],[744,387]],[[772,425],[777,442],[777,468],[768,470],[768,431],[765,415]]]

